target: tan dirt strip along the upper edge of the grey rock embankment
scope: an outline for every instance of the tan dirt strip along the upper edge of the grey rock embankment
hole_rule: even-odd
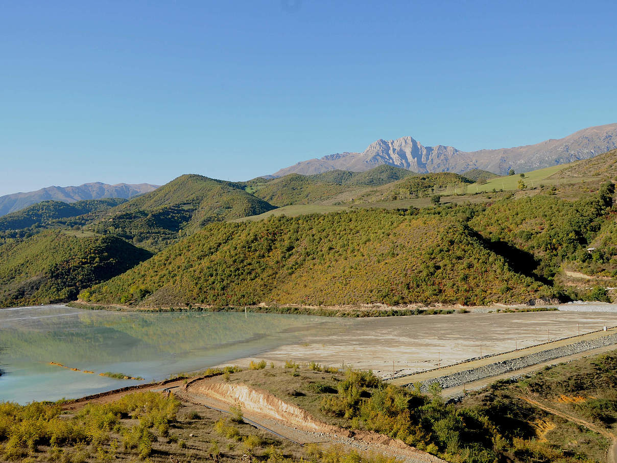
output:
[[[442,367],[440,369],[428,370],[426,372],[413,373],[411,375],[405,375],[403,377],[394,378],[391,380],[387,380],[389,383],[397,385],[397,386],[407,386],[413,383],[420,383],[426,380],[431,380],[437,377],[449,376],[454,373],[464,372],[466,370],[474,370],[479,367],[485,367],[486,365],[491,365],[497,362],[503,362],[512,359],[518,359],[520,357],[529,356],[531,354],[536,354],[537,352],[549,351],[551,349],[560,348],[563,346],[568,346],[569,344],[578,343],[580,341],[591,341],[596,340],[598,338],[603,338],[605,336],[615,335],[617,333],[617,328],[610,328],[607,331],[600,331],[594,333],[587,333],[581,336],[573,336],[571,338],[566,338],[563,340],[552,341],[547,344],[539,344],[537,346],[531,346],[524,349],[518,349],[516,351],[505,352],[503,354],[497,354],[494,356],[481,357],[480,359],[472,360],[469,362],[462,362],[459,364],[449,365],[447,367]],[[615,346],[613,346],[615,349]],[[590,351],[582,352],[582,354],[586,355]],[[565,357],[560,357],[565,358]],[[559,361],[560,359],[555,359]],[[515,372],[510,372],[508,375],[516,376]]]

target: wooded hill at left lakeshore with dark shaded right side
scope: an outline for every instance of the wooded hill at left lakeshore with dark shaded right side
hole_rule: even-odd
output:
[[[113,236],[46,230],[0,246],[0,307],[74,299],[152,254]]]

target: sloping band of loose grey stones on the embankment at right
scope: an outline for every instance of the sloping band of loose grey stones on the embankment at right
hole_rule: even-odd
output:
[[[495,362],[494,364],[484,365],[475,369],[452,373],[452,375],[432,378],[421,382],[420,388],[423,391],[427,391],[428,386],[433,383],[439,383],[439,385],[441,385],[444,389],[455,386],[463,386],[466,383],[479,381],[492,376],[503,375],[504,373],[515,372],[516,370],[520,370],[525,367],[531,367],[531,365],[536,365],[573,354],[580,354],[581,352],[590,351],[591,349],[597,349],[604,346],[610,346],[611,344],[617,344],[617,335],[604,336],[602,338],[590,341],[579,341],[578,343],[569,344],[568,346],[536,352],[534,354],[518,357],[516,359]],[[413,385],[409,385],[408,387],[413,387]]]

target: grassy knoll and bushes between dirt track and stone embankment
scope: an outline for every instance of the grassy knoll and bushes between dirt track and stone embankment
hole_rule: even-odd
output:
[[[606,461],[617,423],[616,362],[615,352],[586,357],[451,402],[436,383],[421,393],[367,371],[325,374],[315,363],[234,372],[229,381],[358,436],[378,432],[453,463],[597,463]]]

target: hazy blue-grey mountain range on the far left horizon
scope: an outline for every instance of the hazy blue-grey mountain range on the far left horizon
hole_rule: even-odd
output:
[[[19,211],[24,207],[31,206],[41,201],[63,201],[75,202],[82,199],[101,199],[101,198],[133,198],[138,194],[159,188],[158,185],[149,183],[129,184],[118,183],[117,185],[107,185],[96,181],[94,183],[84,183],[80,186],[48,186],[37,191],[27,193],[13,193],[0,196],[0,215]]]

